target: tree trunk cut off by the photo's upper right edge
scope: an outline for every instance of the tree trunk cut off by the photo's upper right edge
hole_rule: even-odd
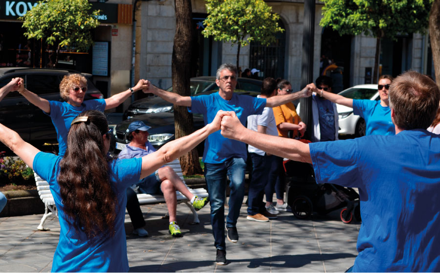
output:
[[[436,71],[436,83],[440,87],[440,0],[434,0],[432,3],[429,15],[429,36]]]

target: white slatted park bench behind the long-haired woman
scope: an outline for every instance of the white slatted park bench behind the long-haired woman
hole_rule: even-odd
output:
[[[165,164],[165,166],[170,166],[171,168],[173,168],[173,170],[177,173],[180,179],[185,183],[185,181],[183,180],[182,169],[180,167],[180,162],[178,159]],[[34,172],[34,176],[35,176],[35,182],[37,184],[38,194],[40,195],[40,198],[43,201],[45,207],[44,215],[41,218],[41,222],[40,225],[38,226],[38,230],[45,230],[44,221],[46,221],[47,217],[49,217],[52,214],[55,214],[58,217],[58,211],[55,205],[55,201],[53,200],[52,193],[50,192],[49,184],[46,181],[44,181],[41,177],[39,177],[35,172]],[[197,195],[198,197],[201,198],[208,197],[208,192],[204,188],[192,189],[188,187],[188,189],[192,194]],[[178,204],[185,203],[191,209],[191,212],[193,213],[192,224],[200,223],[200,220],[198,220],[197,211],[190,203],[190,201],[179,191],[176,191],[176,196],[177,196]],[[165,203],[165,199],[163,195],[157,195],[157,194],[152,195],[152,194],[139,193],[137,194],[137,199],[139,200],[140,205]]]

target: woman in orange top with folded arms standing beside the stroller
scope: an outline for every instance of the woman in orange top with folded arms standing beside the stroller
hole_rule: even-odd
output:
[[[286,95],[292,92],[292,85],[287,80],[277,81],[277,94]],[[288,137],[288,132],[292,131],[293,137],[300,137],[306,132],[306,124],[301,121],[301,117],[296,113],[295,105],[288,102],[281,106],[272,108],[275,122],[277,124],[278,136]],[[273,160],[269,173],[269,182],[264,189],[266,195],[266,209],[272,214],[278,211],[286,211],[287,204],[284,203],[285,173],[283,168],[283,158],[277,157]],[[277,194],[277,204],[272,204],[273,192]]]

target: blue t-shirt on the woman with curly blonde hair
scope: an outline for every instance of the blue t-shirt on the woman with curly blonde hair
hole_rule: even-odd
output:
[[[105,99],[92,99],[84,101],[80,107],[73,106],[67,102],[49,100],[50,118],[57,131],[58,154],[64,156],[66,153],[67,134],[69,133],[70,123],[81,112],[86,110],[99,110],[104,112],[106,108]]]

